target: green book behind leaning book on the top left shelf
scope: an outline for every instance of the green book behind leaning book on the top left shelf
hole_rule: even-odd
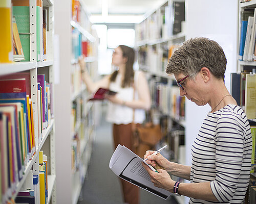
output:
[[[25,57],[23,61],[30,61],[29,7],[13,6],[12,15],[16,19],[20,42],[22,43]]]

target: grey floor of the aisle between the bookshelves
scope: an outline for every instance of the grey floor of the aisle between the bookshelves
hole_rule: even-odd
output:
[[[109,168],[109,161],[113,154],[112,124],[105,121],[105,106],[102,106],[100,124],[96,128],[91,161],[81,190],[78,204],[122,204],[121,184],[118,177]],[[144,190],[140,191],[140,203],[173,203],[173,197],[167,200],[159,198]]]

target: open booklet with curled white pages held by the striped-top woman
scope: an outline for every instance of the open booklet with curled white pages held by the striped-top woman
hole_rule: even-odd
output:
[[[111,170],[121,179],[130,182],[148,192],[151,192],[163,199],[167,199],[171,192],[155,187],[151,182],[150,175],[142,166],[144,162],[138,155],[134,154],[129,148],[118,144],[110,159]],[[156,171],[151,165],[148,167]]]

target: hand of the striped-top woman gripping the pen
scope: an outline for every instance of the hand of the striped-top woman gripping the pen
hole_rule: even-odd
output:
[[[161,169],[168,169],[168,164],[169,161],[163,157],[160,153],[158,153],[157,155],[152,155],[155,151],[152,150],[147,150],[146,154],[144,155],[144,159],[147,158],[146,163],[156,167],[159,166],[159,168]],[[156,167],[157,169],[159,169],[158,167]]]

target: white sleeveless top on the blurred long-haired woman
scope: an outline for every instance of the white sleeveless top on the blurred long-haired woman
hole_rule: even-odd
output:
[[[135,100],[138,99],[137,84],[138,76],[140,71],[135,71],[134,82],[135,82]],[[121,87],[121,74],[118,73],[116,81],[110,83],[110,90],[116,91],[116,96],[124,101],[133,100],[133,87]],[[145,120],[145,111],[143,109],[135,109],[135,123],[143,123]],[[129,124],[133,121],[133,109],[127,106],[113,104],[109,101],[108,113],[106,114],[106,121],[115,124]]]

